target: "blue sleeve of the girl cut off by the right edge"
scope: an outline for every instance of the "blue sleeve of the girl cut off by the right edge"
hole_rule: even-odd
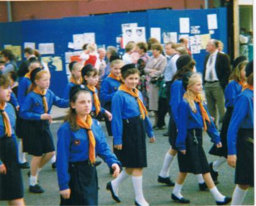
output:
[[[236,142],[238,139],[238,130],[242,121],[246,118],[249,108],[249,101],[246,96],[239,96],[235,102],[235,107],[228,126],[227,143],[228,154],[236,154]]]

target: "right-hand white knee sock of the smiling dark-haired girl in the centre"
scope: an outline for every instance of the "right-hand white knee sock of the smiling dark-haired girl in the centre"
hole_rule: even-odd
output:
[[[142,190],[142,176],[140,177],[132,177],[133,180],[133,188],[135,193],[135,200],[139,205],[148,206],[149,204],[144,198],[143,190]]]

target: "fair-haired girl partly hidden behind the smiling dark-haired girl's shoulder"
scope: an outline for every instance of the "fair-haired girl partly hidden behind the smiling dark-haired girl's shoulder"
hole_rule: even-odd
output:
[[[112,97],[114,96],[115,92],[118,90],[122,82],[121,68],[123,67],[123,65],[124,64],[121,59],[116,59],[112,61],[111,73],[108,75],[107,78],[104,78],[103,82],[101,83],[101,92],[99,97],[101,99],[101,102],[103,103],[104,109],[106,110],[111,111]],[[109,136],[112,136],[111,121],[105,118],[105,123]]]

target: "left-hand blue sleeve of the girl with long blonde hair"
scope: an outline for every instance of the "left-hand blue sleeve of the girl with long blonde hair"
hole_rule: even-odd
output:
[[[185,101],[180,102],[177,109],[177,139],[176,147],[178,150],[186,150],[186,139],[187,139],[187,121],[188,121],[188,103]]]

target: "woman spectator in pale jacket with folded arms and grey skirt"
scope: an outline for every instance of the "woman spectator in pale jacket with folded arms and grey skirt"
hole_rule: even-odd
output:
[[[150,77],[149,81],[149,110],[152,110],[155,113],[155,123],[153,128],[157,125],[158,118],[158,91],[159,86],[155,84],[157,78],[163,75],[167,60],[165,56],[161,55],[163,52],[163,47],[161,44],[156,43],[152,45],[152,54],[153,56],[147,62],[144,71]]]

